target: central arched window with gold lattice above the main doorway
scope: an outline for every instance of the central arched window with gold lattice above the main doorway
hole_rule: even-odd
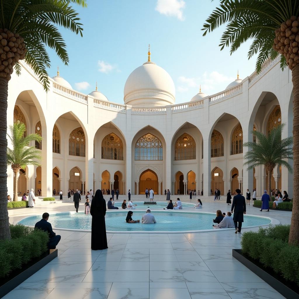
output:
[[[163,160],[161,141],[150,133],[139,138],[135,145],[135,160]]]

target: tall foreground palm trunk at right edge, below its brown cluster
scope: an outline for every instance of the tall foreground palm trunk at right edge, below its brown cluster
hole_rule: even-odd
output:
[[[293,157],[294,157],[294,180],[293,180],[293,209],[289,244],[296,244],[299,240],[299,64],[292,68],[293,81]]]

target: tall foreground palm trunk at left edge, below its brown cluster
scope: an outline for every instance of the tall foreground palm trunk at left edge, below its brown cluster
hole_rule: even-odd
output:
[[[7,96],[8,81],[0,77],[0,239],[10,239],[7,211]]]

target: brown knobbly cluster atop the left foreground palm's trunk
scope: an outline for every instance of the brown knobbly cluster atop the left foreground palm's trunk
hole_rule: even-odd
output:
[[[24,39],[18,33],[0,29],[0,77],[10,80],[13,66],[25,58]]]

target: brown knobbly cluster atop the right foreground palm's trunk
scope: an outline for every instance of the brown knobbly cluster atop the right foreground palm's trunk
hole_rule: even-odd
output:
[[[291,16],[275,30],[273,49],[286,57],[290,69],[299,64],[299,17]]]

